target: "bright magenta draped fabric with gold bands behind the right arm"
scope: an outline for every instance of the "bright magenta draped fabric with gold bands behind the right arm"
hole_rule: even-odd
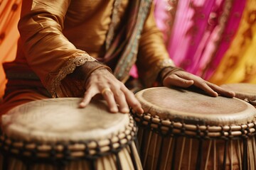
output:
[[[175,18],[169,13],[169,1],[154,2],[156,24],[168,40],[171,59],[178,67],[209,79],[238,30],[245,1],[179,0]],[[166,23],[170,22],[174,24],[168,37]]]

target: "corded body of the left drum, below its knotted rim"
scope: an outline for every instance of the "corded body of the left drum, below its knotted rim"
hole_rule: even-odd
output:
[[[23,170],[23,169],[31,169],[31,170],[38,170],[38,169],[50,169],[50,170],[58,170],[58,169],[65,169],[65,170],[92,170],[92,169],[142,169],[139,154],[137,154],[137,147],[135,147],[134,142],[125,148],[123,148],[118,153],[118,159],[120,167],[117,166],[117,155],[116,154],[109,154],[107,156],[102,156],[99,159],[95,160],[88,160],[88,159],[79,159],[76,161],[69,161],[69,162],[29,162],[26,164],[26,161],[21,161],[20,159],[16,159],[15,157],[3,157],[0,154],[0,165],[8,166],[8,170]],[[134,160],[132,160],[134,159]],[[134,162],[135,161],[135,162]],[[4,166],[0,166],[0,170],[5,170]]]

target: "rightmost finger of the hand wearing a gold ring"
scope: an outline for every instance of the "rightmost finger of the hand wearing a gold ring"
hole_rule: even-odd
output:
[[[137,98],[134,96],[132,91],[129,91],[125,86],[122,88],[122,91],[124,92],[124,96],[127,100],[128,105],[139,114],[144,113],[141,103],[137,100]]]

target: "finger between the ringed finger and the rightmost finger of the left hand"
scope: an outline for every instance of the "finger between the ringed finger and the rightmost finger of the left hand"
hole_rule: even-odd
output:
[[[129,113],[129,106],[127,104],[124,93],[121,90],[113,89],[114,99],[119,105],[119,112],[121,113]]]

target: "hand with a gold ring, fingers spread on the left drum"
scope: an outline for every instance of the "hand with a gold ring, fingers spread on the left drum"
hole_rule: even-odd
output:
[[[124,84],[117,80],[107,69],[96,69],[85,84],[85,96],[80,103],[84,108],[92,98],[101,94],[107,101],[110,112],[129,113],[129,106],[137,113],[143,113],[143,109],[132,91],[129,91]]]

